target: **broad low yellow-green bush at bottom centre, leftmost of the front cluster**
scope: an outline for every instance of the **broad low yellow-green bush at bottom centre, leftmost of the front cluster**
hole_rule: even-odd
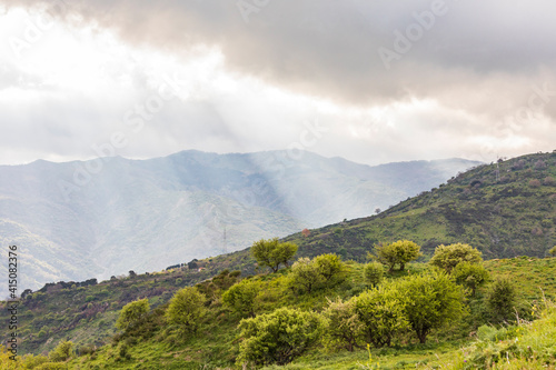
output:
[[[244,319],[237,363],[286,364],[320,339],[324,320],[316,312],[280,308],[272,313]]]

